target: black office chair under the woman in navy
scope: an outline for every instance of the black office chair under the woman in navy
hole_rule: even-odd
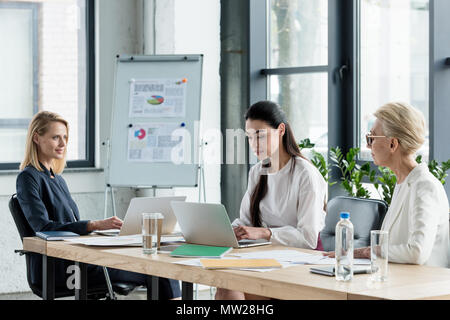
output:
[[[27,219],[25,218],[25,215],[23,214],[22,208],[20,207],[19,201],[17,200],[17,196],[15,194],[12,195],[11,199],[9,200],[9,211],[11,211],[11,214],[13,216],[14,222],[16,223],[17,230],[19,231],[20,240],[23,242],[24,237],[34,237],[35,233],[31,229],[30,225],[28,224]],[[31,281],[31,269],[30,269],[30,255],[37,255],[37,253],[33,252],[26,252],[23,250],[16,250],[16,253],[20,253],[21,255],[25,255],[26,260],[26,266],[27,266],[27,281],[28,285],[30,286],[31,291],[42,298],[42,287],[39,285],[35,285]],[[133,291],[136,288],[135,284],[132,283],[125,283],[125,282],[113,282],[112,283],[112,289],[115,293],[119,295],[126,296],[131,291]],[[55,298],[63,298],[63,297],[70,297],[74,296],[75,292],[74,290],[69,290],[67,288],[55,288]],[[96,286],[90,286],[88,288],[88,299],[90,300],[98,300],[103,298],[109,298],[112,299],[114,297],[110,297],[109,290],[107,287],[107,284],[104,285],[96,285]]]

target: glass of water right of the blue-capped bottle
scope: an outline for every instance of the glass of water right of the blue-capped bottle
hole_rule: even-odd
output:
[[[386,281],[388,275],[389,235],[387,231],[370,232],[370,265],[372,280]]]

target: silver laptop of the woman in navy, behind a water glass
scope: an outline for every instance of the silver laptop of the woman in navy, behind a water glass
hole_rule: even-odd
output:
[[[160,212],[164,216],[161,234],[171,234],[177,224],[171,201],[185,201],[186,197],[138,197],[133,198],[123,220],[120,236],[142,233],[142,213]]]

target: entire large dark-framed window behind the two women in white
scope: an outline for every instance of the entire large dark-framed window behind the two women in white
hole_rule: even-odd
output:
[[[401,101],[425,116],[419,154],[450,158],[450,1],[249,3],[250,101],[278,101],[298,140],[319,151],[360,147],[360,160],[370,161],[363,137],[374,111]]]

